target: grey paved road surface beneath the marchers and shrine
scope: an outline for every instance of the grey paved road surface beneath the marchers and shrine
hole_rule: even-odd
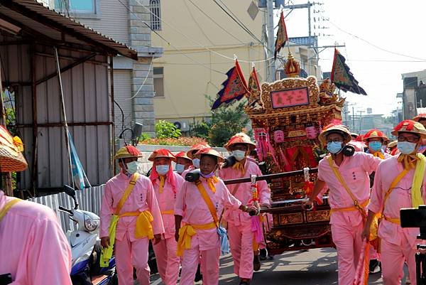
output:
[[[309,251],[285,252],[273,260],[262,263],[253,276],[251,285],[331,285],[337,284],[337,254],[334,249],[310,249]],[[233,273],[231,255],[221,258],[219,285],[238,285]],[[163,285],[158,274],[151,276],[151,285]],[[201,284],[198,282],[197,284]],[[383,284],[381,274],[371,274],[368,284]],[[405,284],[403,281],[402,284]]]

